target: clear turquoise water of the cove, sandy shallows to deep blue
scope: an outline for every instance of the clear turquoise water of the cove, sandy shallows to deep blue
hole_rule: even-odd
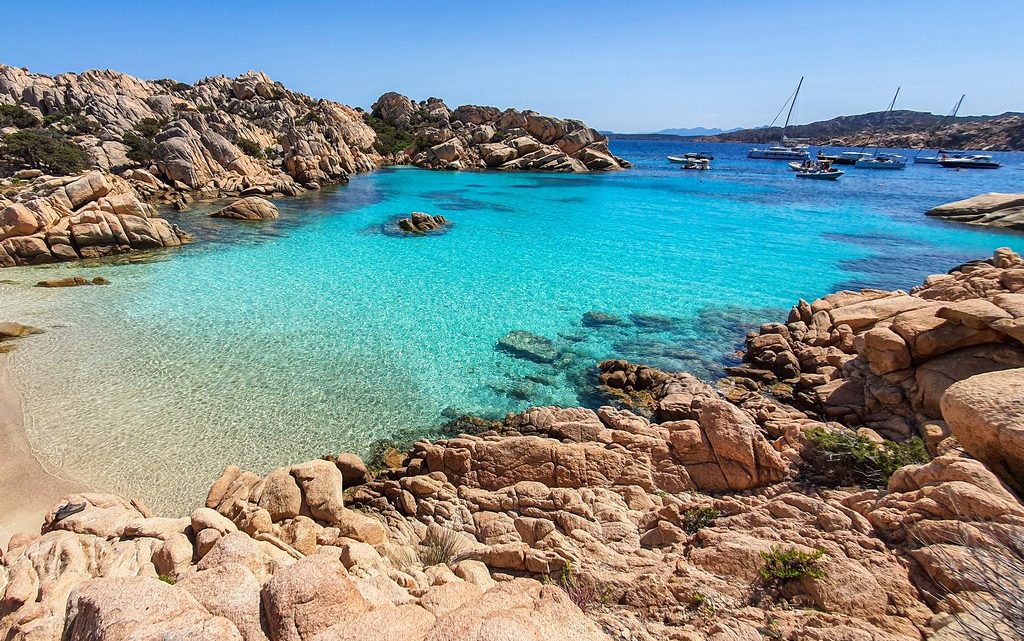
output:
[[[682,172],[664,157],[686,149],[652,142],[615,143],[637,164],[615,174],[383,170],[283,201],[267,223],[168,214],[198,242],[147,261],[6,269],[0,315],[48,330],[11,359],[33,444],[68,475],[180,510],[225,463],[266,470],[437,434],[463,413],[596,403],[607,357],[712,377],[800,297],[908,288],[1024,249],[922,215],[1024,191],[1017,155],[991,172],[822,184],[745,145],[703,147],[715,171]],[[411,211],[455,224],[391,233]],[[113,285],[26,287],[73,273]],[[590,310],[622,323],[587,327]],[[496,349],[514,330],[553,341],[556,361]]]

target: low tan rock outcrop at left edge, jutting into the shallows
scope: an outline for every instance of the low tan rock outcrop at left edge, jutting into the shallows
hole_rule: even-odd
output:
[[[189,239],[158,218],[125,179],[98,171],[36,177],[0,199],[0,266],[99,258],[177,247]]]

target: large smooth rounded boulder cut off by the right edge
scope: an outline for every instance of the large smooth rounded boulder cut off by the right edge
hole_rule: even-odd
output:
[[[1024,369],[953,383],[941,408],[964,448],[1024,496]]]

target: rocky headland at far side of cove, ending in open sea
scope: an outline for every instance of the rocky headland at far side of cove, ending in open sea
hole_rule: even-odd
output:
[[[404,156],[419,167],[579,172],[629,166],[608,151],[604,135],[578,120],[473,104],[451,110],[437,98],[414,102],[394,92],[374,103],[373,115],[415,136]]]

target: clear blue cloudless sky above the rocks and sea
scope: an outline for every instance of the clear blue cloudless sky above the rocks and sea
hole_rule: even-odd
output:
[[[193,82],[265,71],[369,106],[434,95],[616,131],[795,122],[898,108],[1024,111],[1024,0],[99,2],[5,11],[0,61]]]

